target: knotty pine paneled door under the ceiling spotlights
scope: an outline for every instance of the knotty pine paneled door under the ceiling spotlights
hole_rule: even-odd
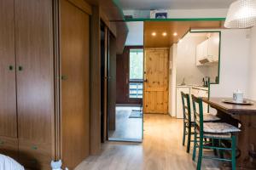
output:
[[[144,113],[168,112],[168,48],[145,48],[144,51]]]

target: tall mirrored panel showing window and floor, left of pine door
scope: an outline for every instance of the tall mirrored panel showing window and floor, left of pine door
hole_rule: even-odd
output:
[[[129,33],[123,53],[116,57],[116,111],[113,141],[143,141],[143,22],[127,23]],[[109,67],[109,69],[113,69]],[[112,116],[113,117],[113,116]],[[110,123],[108,123],[110,125]],[[113,124],[113,123],[112,123]]]

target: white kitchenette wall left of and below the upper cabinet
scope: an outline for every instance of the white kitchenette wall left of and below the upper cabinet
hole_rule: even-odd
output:
[[[202,85],[203,77],[207,77],[207,66],[196,66],[196,46],[206,40],[206,37],[183,37],[177,43],[177,84]]]

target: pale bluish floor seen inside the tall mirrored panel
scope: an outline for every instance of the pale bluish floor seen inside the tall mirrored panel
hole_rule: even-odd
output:
[[[142,140],[143,118],[129,118],[132,110],[140,110],[140,107],[116,107],[116,129],[109,131],[109,140]]]

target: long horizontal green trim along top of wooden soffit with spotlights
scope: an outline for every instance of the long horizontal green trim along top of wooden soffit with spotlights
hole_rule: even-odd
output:
[[[173,19],[137,18],[137,19],[125,19],[126,22],[132,22],[132,21],[220,21],[220,20],[226,20],[226,18],[173,18]]]

